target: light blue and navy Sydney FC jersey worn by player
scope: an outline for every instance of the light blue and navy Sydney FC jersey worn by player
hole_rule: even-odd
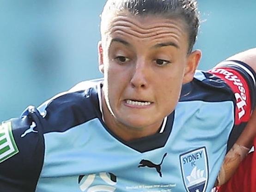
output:
[[[250,97],[255,98],[254,75],[240,70],[250,86]],[[104,124],[101,89],[101,79],[83,82],[38,109],[28,108],[22,118],[2,123],[2,130],[12,129],[6,135],[14,138],[9,145],[18,151],[0,162],[1,189],[211,191],[227,150],[246,125],[235,122],[236,97],[224,80],[196,72],[194,80],[183,86],[177,107],[159,132],[129,142]],[[252,102],[246,110],[253,106]]]

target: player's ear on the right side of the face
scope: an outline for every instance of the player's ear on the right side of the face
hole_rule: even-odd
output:
[[[195,70],[199,64],[201,59],[201,51],[195,50],[188,56],[187,66],[185,67],[184,77],[183,77],[183,84],[189,83],[193,80],[195,75]]]

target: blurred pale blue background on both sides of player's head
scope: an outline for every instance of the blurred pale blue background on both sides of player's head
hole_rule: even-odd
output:
[[[105,0],[0,0],[0,121],[74,84],[102,77],[97,43]],[[256,0],[198,0],[195,48],[210,69],[256,47]]]

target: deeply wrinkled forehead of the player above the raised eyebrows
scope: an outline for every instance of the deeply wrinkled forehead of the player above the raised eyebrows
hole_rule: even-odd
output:
[[[108,19],[102,38],[125,38],[152,43],[173,42],[177,46],[188,44],[185,22],[179,18],[157,15],[132,15],[121,12]]]

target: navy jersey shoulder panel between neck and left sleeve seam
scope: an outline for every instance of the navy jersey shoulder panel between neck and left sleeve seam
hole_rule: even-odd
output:
[[[98,117],[101,79],[81,82],[44,102],[38,110],[44,119],[44,133],[67,129]]]

